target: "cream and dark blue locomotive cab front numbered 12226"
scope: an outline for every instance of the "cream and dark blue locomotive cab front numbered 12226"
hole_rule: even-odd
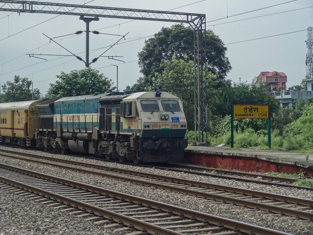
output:
[[[143,162],[181,161],[188,143],[180,99],[167,92],[137,92],[121,102],[121,130]]]

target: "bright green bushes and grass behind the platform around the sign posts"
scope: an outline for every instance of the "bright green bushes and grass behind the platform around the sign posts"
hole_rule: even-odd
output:
[[[234,148],[269,149],[267,120],[234,119]],[[210,146],[231,146],[231,118],[216,118],[208,128]],[[313,152],[313,100],[299,100],[292,108],[278,107],[271,118],[271,150]],[[195,141],[196,136],[196,141]],[[198,133],[186,133],[189,145],[198,142]],[[205,136],[204,136],[204,139]]]

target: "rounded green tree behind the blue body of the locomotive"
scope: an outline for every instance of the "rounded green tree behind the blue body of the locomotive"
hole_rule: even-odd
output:
[[[112,80],[105,77],[98,70],[85,68],[73,70],[70,73],[61,72],[56,76],[59,80],[50,83],[47,97],[64,97],[74,94],[91,95],[116,90]]]

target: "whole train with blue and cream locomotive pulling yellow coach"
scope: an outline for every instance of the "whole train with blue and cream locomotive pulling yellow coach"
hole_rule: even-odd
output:
[[[0,143],[134,163],[179,162],[188,143],[180,98],[129,91],[0,103]]]

